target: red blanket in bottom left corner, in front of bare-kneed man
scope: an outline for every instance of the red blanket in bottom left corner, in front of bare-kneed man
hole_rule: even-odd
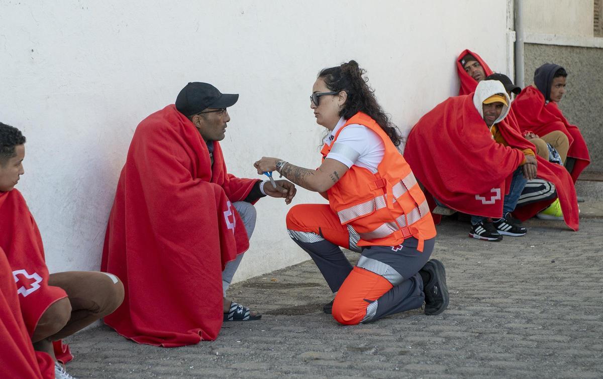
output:
[[[13,269],[0,248],[0,371],[4,378],[54,378],[54,361],[34,351],[14,285]]]

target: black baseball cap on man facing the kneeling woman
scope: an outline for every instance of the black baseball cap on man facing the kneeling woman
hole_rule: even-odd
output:
[[[192,81],[178,93],[176,109],[190,117],[206,108],[232,107],[238,99],[238,93],[221,93],[209,83]]]

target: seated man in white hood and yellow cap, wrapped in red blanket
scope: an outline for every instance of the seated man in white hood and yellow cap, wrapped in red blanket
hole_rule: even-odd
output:
[[[504,127],[509,103],[502,83],[481,81],[475,93],[449,98],[421,117],[405,146],[425,190],[444,206],[473,215],[469,236],[476,239],[524,235],[526,228],[510,213],[526,180],[538,175],[558,181],[537,166],[534,145]],[[577,229],[577,214],[569,226]]]

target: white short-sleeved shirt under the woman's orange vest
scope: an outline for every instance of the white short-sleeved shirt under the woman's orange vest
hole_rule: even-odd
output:
[[[324,143],[330,144],[346,122],[347,120],[341,117],[333,131],[324,138]],[[353,165],[364,167],[374,174],[384,154],[385,145],[377,133],[364,125],[350,124],[339,133],[327,158],[340,161],[348,168]]]

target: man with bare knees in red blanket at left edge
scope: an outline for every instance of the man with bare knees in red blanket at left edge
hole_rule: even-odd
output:
[[[21,192],[14,189],[24,174],[24,157],[25,137],[21,131],[0,123],[0,260],[6,260],[10,265],[14,293],[18,294],[21,317],[33,348],[45,352],[54,361],[65,363],[73,357],[61,339],[113,312],[124,298],[124,287],[115,275],[106,272],[49,274],[36,222]],[[13,296],[10,293],[3,295],[8,299]],[[4,322],[6,313],[1,315]],[[22,328],[14,308],[13,316],[11,332],[16,346],[22,346],[24,341],[17,340],[17,333]],[[8,349],[4,342],[3,338],[3,350]],[[12,351],[8,356],[4,353],[0,356],[8,359],[21,354],[22,359],[31,362],[31,354],[26,354],[26,351]],[[71,377],[58,362],[54,364],[55,375],[58,378]],[[10,360],[6,364],[9,371],[25,370],[16,367],[18,365],[19,360]],[[5,365],[1,366],[4,374]]]

